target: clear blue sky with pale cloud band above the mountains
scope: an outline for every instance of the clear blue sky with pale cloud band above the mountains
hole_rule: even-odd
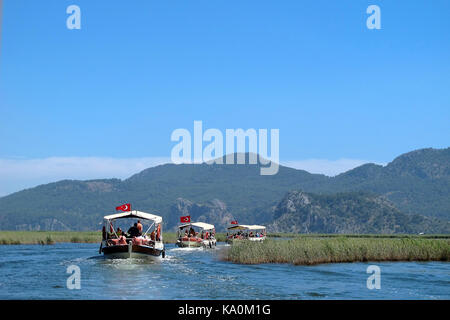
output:
[[[81,30],[66,28],[71,4]],[[370,4],[381,30],[366,28]],[[5,0],[0,195],[126,177],[169,158],[172,131],[194,120],[278,128],[282,163],[317,159],[307,169],[327,174],[327,163],[448,147],[449,12],[425,0]],[[45,159],[102,158],[131,169],[45,173],[55,165]],[[20,176],[25,167],[35,175]]]

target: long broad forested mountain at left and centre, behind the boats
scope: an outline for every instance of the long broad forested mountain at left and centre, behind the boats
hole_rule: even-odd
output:
[[[90,230],[121,203],[162,215],[166,228],[180,198],[195,203],[219,199],[236,218],[252,217],[281,199],[291,188],[318,187],[330,178],[280,167],[277,175],[261,176],[259,165],[174,165],[146,169],[126,180],[64,180],[0,198],[2,229],[39,230],[49,219],[60,229]],[[246,219],[245,219],[246,220]]]

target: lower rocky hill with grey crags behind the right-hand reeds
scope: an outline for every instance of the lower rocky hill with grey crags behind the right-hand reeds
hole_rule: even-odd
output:
[[[363,193],[314,195],[293,191],[276,206],[269,231],[294,233],[449,233],[450,222],[399,212]]]

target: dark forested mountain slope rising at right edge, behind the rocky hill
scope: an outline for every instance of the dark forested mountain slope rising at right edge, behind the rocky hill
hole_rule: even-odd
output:
[[[362,165],[336,176],[322,191],[373,192],[402,212],[450,219],[450,148],[409,152],[385,167]]]

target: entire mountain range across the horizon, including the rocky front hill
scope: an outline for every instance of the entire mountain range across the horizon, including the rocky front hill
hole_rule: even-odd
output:
[[[105,214],[128,202],[163,216],[166,230],[190,214],[218,230],[237,219],[280,232],[447,233],[450,148],[335,177],[284,166],[262,176],[259,164],[165,164],[125,180],[63,180],[0,198],[0,229],[97,230]]]

